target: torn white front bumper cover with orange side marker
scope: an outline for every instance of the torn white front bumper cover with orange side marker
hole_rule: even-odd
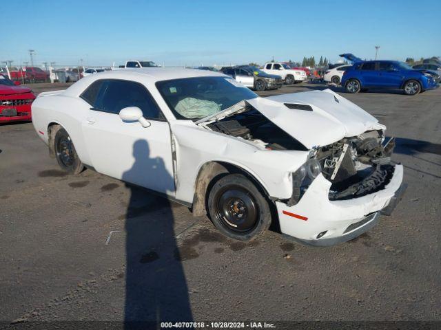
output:
[[[391,214],[406,189],[402,165],[391,166],[380,190],[351,199],[329,199],[331,182],[319,175],[295,206],[277,201],[280,230],[288,239],[317,246],[349,241]]]

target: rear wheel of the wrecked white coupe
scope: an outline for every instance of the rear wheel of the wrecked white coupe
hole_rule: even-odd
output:
[[[68,132],[61,126],[55,128],[54,133],[54,152],[59,166],[72,174],[79,174],[84,166],[76,154],[74,143],[72,142]]]

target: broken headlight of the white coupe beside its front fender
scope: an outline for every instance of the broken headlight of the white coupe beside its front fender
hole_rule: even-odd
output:
[[[287,202],[287,206],[296,205],[311,182],[320,173],[322,173],[322,166],[315,158],[308,159],[296,172],[292,173],[292,195]]]

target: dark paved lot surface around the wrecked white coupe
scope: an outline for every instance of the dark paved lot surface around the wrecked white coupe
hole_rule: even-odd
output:
[[[391,217],[331,248],[230,241],[184,206],[65,175],[31,123],[0,126],[0,320],[441,320],[441,89],[333,89],[397,137],[409,186]]]

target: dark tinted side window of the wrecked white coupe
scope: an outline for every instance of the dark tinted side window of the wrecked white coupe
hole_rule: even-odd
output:
[[[133,81],[105,80],[94,107],[101,111],[118,114],[126,107],[139,107],[145,118],[165,119],[147,89]]]

